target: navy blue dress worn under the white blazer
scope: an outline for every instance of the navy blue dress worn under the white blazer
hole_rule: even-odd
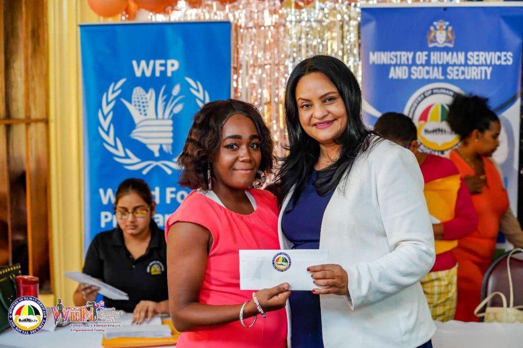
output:
[[[281,228],[293,249],[319,249],[323,213],[331,194],[320,196],[314,187],[318,173],[313,171],[294,208],[283,214]],[[293,198],[292,198],[293,199]],[[292,199],[289,204],[292,203]],[[313,266],[311,264],[311,266]],[[293,347],[323,347],[320,295],[310,291],[293,291],[291,307],[291,343]]]

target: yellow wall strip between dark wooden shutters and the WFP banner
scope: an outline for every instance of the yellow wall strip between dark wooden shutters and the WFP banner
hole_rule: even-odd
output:
[[[83,265],[82,82],[79,29],[82,22],[107,21],[87,0],[47,2],[49,40],[49,142],[51,186],[51,306],[61,297],[73,304],[77,284],[63,276]],[[109,20],[118,20],[111,18]]]

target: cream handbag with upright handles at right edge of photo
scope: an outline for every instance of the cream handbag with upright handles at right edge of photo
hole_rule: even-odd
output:
[[[510,288],[510,303],[507,307],[507,298],[505,294],[496,291],[488,295],[479,306],[474,310],[474,315],[478,318],[484,317],[485,322],[521,322],[523,323],[523,306],[514,306],[514,284],[512,283],[512,275],[510,274],[510,257],[516,251],[523,252],[523,249],[516,248],[508,254],[507,257],[507,273],[508,273],[508,286]],[[485,306],[488,301],[494,296],[501,297],[503,307],[487,307],[485,312],[480,313],[479,311]]]

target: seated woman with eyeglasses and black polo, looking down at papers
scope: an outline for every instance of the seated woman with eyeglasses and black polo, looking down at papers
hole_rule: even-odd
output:
[[[105,306],[132,312],[135,323],[169,312],[166,243],[163,230],[152,219],[155,207],[145,181],[120,183],[115,201],[118,226],[95,236],[83,268],[85,274],[129,295],[129,300],[105,298]],[[97,294],[97,287],[79,284],[74,303],[83,306]]]

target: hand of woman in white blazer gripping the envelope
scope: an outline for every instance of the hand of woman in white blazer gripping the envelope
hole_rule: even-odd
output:
[[[327,286],[326,288],[313,289],[314,294],[348,295],[347,272],[339,264],[321,264],[310,266],[307,271],[311,272],[314,284]]]

